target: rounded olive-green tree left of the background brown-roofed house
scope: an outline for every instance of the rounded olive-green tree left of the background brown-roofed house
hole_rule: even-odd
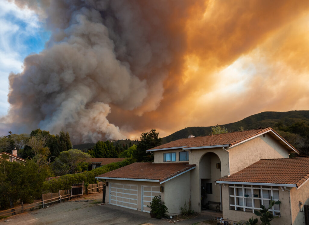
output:
[[[50,167],[57,176],[82,172],[88,168],[87,159],[89,158],[90,155],[87,153],[78,149],[70,149],[60,152]]]

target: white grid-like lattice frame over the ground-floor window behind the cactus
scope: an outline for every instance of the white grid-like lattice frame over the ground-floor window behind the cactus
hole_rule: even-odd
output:
[[[244,212],[249,212],[248,210],[250,210],[250,212],[252,211],[252,213],[254,213],[254,210],[261,210],[260,207],[255,207],[255,202],[254,200],[260,200],[261,205],[264,205],[264,201],[270,201],[270,198],[263,198],[263,190],[270,190],[271,196],[273,196],[273,191],[278,191],[279,193],[279,189],[278,188],[273,188],[273,186],[257,186],[257,185],[233,185],[233,186],[229,186],[229,188],[232,189],[232,195],[230,195],[230,197],[234,198],[234,204],[230,204],[230,206],[234,207],[235,210],[238,210],[237,208],[241,208],[243,209]],[[238,193],[238,189],[242,189],[242,196],[238,196],[236,195],[236,193]],[[244,189],[249,189],[251,190],[251,197],[245,197],[244,195]],[[260,192],[260,197],[254,197],[254,190],[259,190]],[[280,198],[280,196],[279,196]],[[240,206],[239,204],[237,204],[238,199],[242,199],[243,202],[243,206]],[[246,206],[246,201],[248,201],[249,199],[251,199],[252,201],[252,206]],[[280,199],[273,199],[273,201],[280,201]],[[230,202],[231,203],[231,202]],[[247,210],[247,211],[246,211]],[[279,210],[275,209],[275,206],[273,206],[272,208],[269,209],[269,211],[271,211],[273,213],[273,215],[280,215],[280,208]]]

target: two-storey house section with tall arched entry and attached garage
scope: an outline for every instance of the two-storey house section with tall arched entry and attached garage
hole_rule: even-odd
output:
[[[109,182],[107,202],[148,211],[152,197],[161,195],[169,214],[179,214],[189,198],[196,212],[209,201],[220,202],[222,209],[229,203],[222,202],[221,185],[216,185],[216,180],[260,159],[298,153],[271,128],[184,138],[147,151],[154,154],[154,163],[133,163],[96,177]]]

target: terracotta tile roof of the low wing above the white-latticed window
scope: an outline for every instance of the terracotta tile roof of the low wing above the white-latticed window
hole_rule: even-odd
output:
[[[295,184],[299,187],[309,178],[309,157],[261,159],[256,163],[222,177],[218,181]]]

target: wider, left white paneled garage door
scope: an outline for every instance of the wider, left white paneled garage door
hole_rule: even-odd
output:
[[[109,203],[137,210],[137,185],[110,184]]]

